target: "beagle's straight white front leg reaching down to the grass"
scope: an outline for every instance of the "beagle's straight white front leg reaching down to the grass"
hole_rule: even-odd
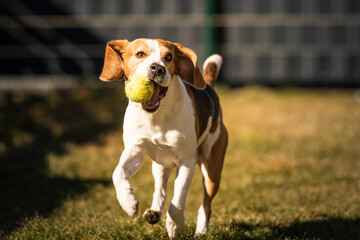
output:
[[[194,175],[195,159],[178,168],[175,179],[174,197],[166,214],[166,229],[170,239],[175,238],[185,229],[185,201]]]

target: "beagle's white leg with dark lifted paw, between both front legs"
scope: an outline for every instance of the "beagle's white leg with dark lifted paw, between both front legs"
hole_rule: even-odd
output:
[[[166,168],[155,161],[152,163],[152,173],[155,181],[155,191],[151,208],[147,209],[143,218],[150,224],[160,220],[162,209],[166,200],[166,186],[172,169]]]

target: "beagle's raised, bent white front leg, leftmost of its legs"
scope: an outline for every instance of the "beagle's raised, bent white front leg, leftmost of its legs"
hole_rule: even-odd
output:
[[[117,199],[132,218],[137,214],[139,203],[128,179],[139,170],[143,161],[143,154],[140,151],[125,149],[112,176]]]

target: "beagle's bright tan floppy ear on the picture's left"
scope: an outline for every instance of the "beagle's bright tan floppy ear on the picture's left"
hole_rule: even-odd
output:
[[[106,45],[104,67],[100,75],[102,81],[114,81],[124,76],[124,59],[122,54],[126,51],[128,40],[114,40]]]

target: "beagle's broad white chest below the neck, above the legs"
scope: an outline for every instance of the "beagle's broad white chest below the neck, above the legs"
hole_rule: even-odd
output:
[[[174,167],[194,158],[197,137],[193,115],[172,116],[157,121],[145,116],[131,116],[131,112],[127,112],[124,121],[125,145],[139,147],[165,167]]]

